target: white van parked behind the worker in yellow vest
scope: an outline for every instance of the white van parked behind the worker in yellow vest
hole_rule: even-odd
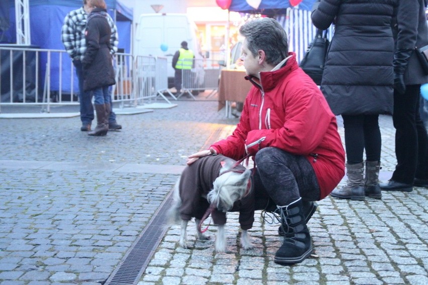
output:
[[[173,87],[172,57],[182,41],[202,59],[196,25],[186,14],[141,14],[135,33],[134,54],[168,58],[168,88]]]

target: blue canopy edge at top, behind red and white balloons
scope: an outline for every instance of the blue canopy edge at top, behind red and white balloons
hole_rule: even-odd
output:
[[[314,2],[314,0],[302,0],[296,8],[300,10],[311,10]],[[293,8],[288,0],[261,0],[258,9],[251,7],[246,0],[232,0],[229,11],[276,16],[285,14],[287,8]]]

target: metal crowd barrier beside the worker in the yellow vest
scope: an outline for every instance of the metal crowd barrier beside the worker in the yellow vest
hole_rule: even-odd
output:
[[[193,99],[194,92],[211,90],[207,96],[212,96],[218,91],[220,77],[220,64],[218,60],[193,59],[191,69],[181,70],[181,93],[177,99],[184,94],[189,94]]]

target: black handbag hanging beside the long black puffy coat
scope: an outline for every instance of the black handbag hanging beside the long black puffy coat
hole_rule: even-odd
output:
[[[317,29],[315,38],[310,43],[300,62],[300,68],[312,78],[316,85],[320,85],[323,78],[329,45],[330,41],[327,39],[327,32]]]

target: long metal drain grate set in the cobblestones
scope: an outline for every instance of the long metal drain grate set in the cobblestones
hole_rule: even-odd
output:
[[[167,231],[166,213],[172,204],[172,191],[153,215],[141,236],[125,254],[119,267],[105,281],[105,285],[136,284],[149,264],[155,249]]]

